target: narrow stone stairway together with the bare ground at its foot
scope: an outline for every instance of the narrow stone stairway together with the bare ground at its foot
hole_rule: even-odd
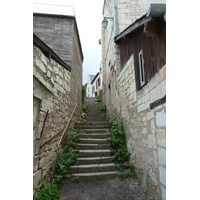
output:
[[[87,121],[75,125],[80,137],[78,165],[70,167],[60,200],[148,200],[136,180],[118,177],[106,114],[94,98],[86,98],[86,105]],[[80,182],[71,181],[74,177]]]

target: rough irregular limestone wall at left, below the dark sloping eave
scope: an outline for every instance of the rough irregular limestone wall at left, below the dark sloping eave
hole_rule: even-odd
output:
[[[34,187],[51,176],[58,141],[71,115],[70,81],[71,72],[33,46]]]

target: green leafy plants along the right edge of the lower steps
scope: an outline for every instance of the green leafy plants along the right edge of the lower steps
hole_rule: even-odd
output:
[[[133,163],[129,163],[128,170],[125,170],[123,163],[129,160],[130,153],[126,147],[125,132],[123,129],[123,124],[121,119],[115,114],[109,121],[111,125],[111,140],[110,145],[116,152],[114,154],[113,160],[115,163],[119,164],[118,169],[120,171],[119,176],[121,178],[136,178],[136,168]]]

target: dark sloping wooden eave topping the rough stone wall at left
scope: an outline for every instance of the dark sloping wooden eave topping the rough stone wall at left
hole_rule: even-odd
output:
[[[33,44],[42,50],[42,52],[48,57],[52,58],[58,62],[61,66],[71,72],[71,67],[69,67],[51,48],[49,48],[42,40],[40,40],[33,33]]]

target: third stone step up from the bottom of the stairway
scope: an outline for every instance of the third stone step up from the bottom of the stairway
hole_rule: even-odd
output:
[[[80,165],[111,163],[112,162],[112,158],[113,158],[112,156],[106,156],[106,157],[83,157],[83,158],[78,158],[78,163]]]

